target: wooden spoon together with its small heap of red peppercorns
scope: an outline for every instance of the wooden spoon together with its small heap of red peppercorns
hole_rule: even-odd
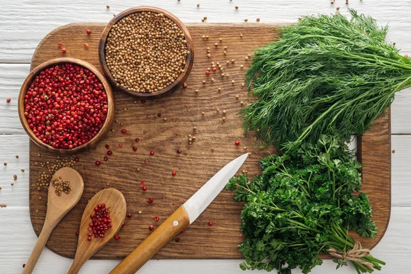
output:
[[[77,251],[67,274],[78,273],[83,264],[119,232],[126,210],[124,196],[115,188],[101,190],[90,199],[83,212]]]

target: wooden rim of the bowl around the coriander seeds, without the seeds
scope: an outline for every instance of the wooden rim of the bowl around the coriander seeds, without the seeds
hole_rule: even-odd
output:
[[[137,12],[155,12],[155,13],[162,13],[164,16],[167,18],[171,19],[179,29],[182,30],[184,33],[184,38],[187,41],[187,50],[190,51],[190,54],[187,55],[186,59],[186,66],[184,66],[184,73],[181,73],[177,79],[171,84],[170,86],[167,86],[166,88],[163,88],[162,90],[158,90],[155,92],[134,92],[127,90],[127,88],[123,88],[121,86],[117,87],[116,80],[114,77],[112,77],[112,74],[110,73],[110,70],[108,69],[107,63],[105,62],[105,44],[107,43],[107,38],[108,34],[110,33],[110,30],[112,29],[112,26],[119,22],[121,19],[123,19],[126,16],[129,16],[130,14],[134,14]],[[177,90],[184,82],[186,81],[188,75],[190,74],[190,71],[192,69],[192,63],[194,62],[194,46],[192,42],[192,38],[190,36],[190,33],[188,32],[188,29],[182,21],[179,21],[179,18],[175,16],[174,14],[171,14],[171,12],[167,12],[166,10],[162,10],[160,8],[154,8],[154,7],[147,7],[147,6],[141,6],[141,7],[136,7],[136,8],[130,8],[128,10],[125,10],[124,12],[121,12],[120,14],[117,14],[112,20],[105,26],[105,29],[103,31],[103,34],[101,35],[100,42],[99,42],[99,59],[100,59],[100,64],[101,64],[101,69],[103,70],[105,76],[108,78],[110,83],[114,88],[118,88],[119,90],[123,92],[127,92],[130,95],[133,95],[135,97],[158,97],[160,95],[164,95],[166,92],[173,92]]]

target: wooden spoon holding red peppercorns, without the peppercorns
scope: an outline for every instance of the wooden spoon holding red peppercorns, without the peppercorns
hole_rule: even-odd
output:
[[[105,232],[103,238],[94,238],[89,242],[88,227],[91,223],[90,215],[94,214],[94,208],[105,203],[107,208],[110,208],[110,219],[112,220],[112,227]],[[82,223],[79,230],[79,242],[77,244],[77,251],[71,268],[67,274],[78,273],[83,264],[90,259],[101,247],[107,244],[119,232],[121,225],[123,225],[126,213],[126,205],[123,194],[114,188],[106,188],[98,192],[88,202],[86,209],[83,212]]]

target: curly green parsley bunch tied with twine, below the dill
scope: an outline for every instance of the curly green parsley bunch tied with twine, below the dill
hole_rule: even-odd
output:
[[[346,145],[321,136],[314,145],[303,143],[296,152],[262,159],[262,175],[252,183],[245,175],[230,179],[227,190],[235,190],[236,201],[247,201],[241,212],[247,237],[239,245],[246,260],[241,269],[290,274],[299,267],[309,273],[322,263],[319,253],[353,248],[347,230],[374,237],[377,229],[367,195],[352,195],[362,184],[361,164],[352,159]],[[385,264],[371,255],[361,259],[377,270]],[[347,265],[334,261],[337,268]],[[362,262],[352,263],[358,273],[373,271]]]

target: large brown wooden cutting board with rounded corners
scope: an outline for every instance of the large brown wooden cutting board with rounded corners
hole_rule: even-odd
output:
[[[38,45],[32,69],[62,56],[80,58],[100,68],[97,48],[104,26],[103,23],[74,23],[55,29]],[[82,212],[87,201],[103,188],[117,188],[123,192],[127,212],[132,218],[126,218],[125,226],[119,232],[121,240],[109,242],[93,258],[119,259],[127,256],[150,234],[149,225],[158,227],[214,173],[238,155],[251,152],[242,170],[248,171],[251,177],[260,173],[258,162],[269,151],[258,152],[253,146],[252,134],[247,138],[244,136],[238,111],[242,108],[240,102],[247,103],[249,98],[247,89],[241,84],[249,66],[249,60],[245,58],[253,49],[275,40],[277,31],[273,28],[279,25],[193,23],[187,26],[195,45],[195,62],[187,80],[188,88],[145,103],[115,92],[117,123],[112,127],[114,132],[110,132],[96,149],[77,155],[79,162],[73,167],[84,178],[84,195],[51,234],[47,242],[51,251],[73,258],[77,245],[75,233]],[[86,29],[92,29],[92,34],[86,34]],[[209,36],[208,40],[202,38],[204,35]],[[66,53],[58,48],[58,42],[63,43]],[[84,43],[88,43],[88,49]],[[218,43],[218,47],[214,47],[214,43]],[[226,55],[223,54],[225,46]],[[207,57],[207,47],[210,47],[211,58]],[[235,63],[227,66],[226,61],[232,59]],[[218,72],[206,76],[205,71],[211,67],[211,62],[220,62],[223,73],[228,73],[229,77],[221,77]],[[240,65],[244,68],[240,69]],[[127,133],[121,134],[121,129],[126,129]],[[192,145],[188,144],[189,134],[196,137]],[[135,142],[135,138],[140,141]],[[240,146],[234,145],[236,140],[241,142]],[[120,143],[123,147],[119,147]],[[105,144],[110,145],[113,152],[107,162],[103,161],[107,152]],[[136,152],[133,145],[138,147]],[[178,154],[177,149],[182,149],[182,153]],[[149,155],[150,151],[155,151],[155,155]],[[358,139],[358,152],[363,164],[362,190],[370,197],[373,219],[379,229],[376,238],[360,238],[364,247],[371,248],[384,235],[390,218],[389,110]],[[29,203],[36,234],[42,229],[47,203],[47,189],[38,190],[36,183],[39,173],[47,171],[47,161],[52,164],[56,159],[57,155],[30,143]],[[100,166],[95,165],[96,160],[101,161]],[[172,176],[172,171],[177,171],[177,175]],[[145,182],[147,192],[142,191],[140,182]],[[147,203],[149,197],[153,197],[153,203]],[[242,203],[234,201],[233,193],[223,190],[199,219],[177,236],[179,242],[172,240],[155,258],[242,258],[237,249],[244,240],[240,232],[241,209]],[[160,221],[154,221],[155,216],[159,216]],[[208,225],[209,221],[214,223],[212,227]]]

